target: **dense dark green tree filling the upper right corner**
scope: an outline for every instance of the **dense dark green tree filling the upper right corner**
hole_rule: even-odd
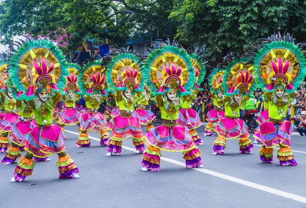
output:
[[[298,0],[174,0],[170,19],[185,44],[205,44],[212,60],[278,30],[305,40],[306,5]]]

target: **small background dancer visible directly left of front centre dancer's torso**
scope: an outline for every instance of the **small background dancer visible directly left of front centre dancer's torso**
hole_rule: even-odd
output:
[[[149,100],[151,98],[151,93],[148,91],[148,88],[145,86],[142,92],[137,92],[134,94],[135,103],[137,104],[137,110],[132,112],[134,117],[138,117],[141,126],[146,126],[146,131],[151,128],[154,128],[152,121],[155,119],[154,113],[146,108],[149,105]]]

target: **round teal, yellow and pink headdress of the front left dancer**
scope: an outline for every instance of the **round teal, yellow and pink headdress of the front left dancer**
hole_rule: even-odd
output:
[[[34,86],[30,86],[29,76],[34,77]],[[67,76],[66,58],[52,41],[25,42],[11,57],[9,77],[20,99],[34,99],[34,92],[61,92]]]

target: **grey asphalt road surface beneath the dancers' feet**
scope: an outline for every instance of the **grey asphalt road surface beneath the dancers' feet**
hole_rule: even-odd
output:
[[[260,144],[243,155],[238,140],[227,140],[225,155],[212,155],[216,136],[203,136],[202,126],[197,130],[205,143],[198,146],[204,169],[186,169],[182,153],[162,152],[162,170],[142,172],[132,139],[123,142],[121,155],[107,157],[107,147],[94,139],[91,147],[76,148],[78,128],[65,129],[66,150],[80,179],[59,180],[57,156],[36,162],[32,176],[22,183],[10,183],[16,163],[1,164],[0,207],[306,207],[306,137],[294,136],[292,142],[298,166],[281,167],[276,150],[274,164],[264,164]],[[99,138],[93,132],[90,136]]]

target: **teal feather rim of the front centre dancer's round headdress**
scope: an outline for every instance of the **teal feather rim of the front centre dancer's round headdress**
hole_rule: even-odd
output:
[[[174,53],[178,56],[180,56],[186,63],[187,68],[188,68],[188,72],[189,72],[189,77],[188,80],[186,80],[186,83],[184,85],[184,88],[187,92],[192,91],[192,88],[194,86],[195,83],[195,74],[194,74],[194,69],[192,66],[192,62],[190,60],[190,55],[188,55],[185,51],[183,51],[180,48],[177,48],[175,46],[170,46],[167,45],[163,48],[159,48],[159,49],[155,49],[154,51],[152,51],[143,66],[143,70],[142,70],[142,74],[145,76],[146,78],[146,84],[147,87],[149,88],[149,90],[152,92],[152,95],[161,95],[161,93],[158,93],[158,90],[155,85],[154,82],[152,82],[152,80],[150,79],[150,71],[151,71],[151,65],[152,63],[156,60],[156,58],[158,58],[159,56],[161,56],[164,53]],[[164,94],[164,93],[162,93]]]

